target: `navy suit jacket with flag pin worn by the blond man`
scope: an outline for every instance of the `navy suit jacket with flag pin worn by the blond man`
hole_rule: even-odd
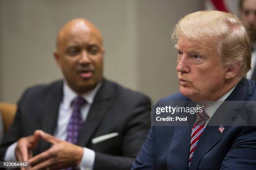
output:
[[[174,100],[189,101],[190,99],[177,93],[162,101]],[[255,82],[247,79],[241,80],[226,100],[255,101]],[[230,114],[228,112],[218,113],[218,110],[208,124],[218,115]],[[189,115],[190,120],[194,117],[193,122],[195,122],[195,115]],[[243,116],[235,115],[233,123]],[[255,114],[252,116],[255,117]],[[255,126],[232,126],[231,124],[225,126],[223,133],[220,133],[218,130],[220,125],[208,126],[208,124],[195,148],[189,168],[193,123],[187,126],[152,126],[142,150],[133,163],[132,170],[256,170]]]

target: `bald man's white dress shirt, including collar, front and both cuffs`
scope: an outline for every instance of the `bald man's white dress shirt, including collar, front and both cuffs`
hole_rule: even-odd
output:
[[[95,98],[95,95],[97,91],[99,90],[101,86],[101,83],[99,83],[93,90],[90,92],[87,92],[82,95],[84,100],[87,101],[87,104],[82,106],[81,108],[81,117],[83,122],[85,122],[88,112],[90,110],[90,107],[92,105],[92,102]],[[56,129],[54,130],[54,136],[56,138],[59,138],[61,140],[66,140],[67,138],[67,126],[69,124],[69,119],[72,115],[72,101],[74,98],[76,98],[78,95],[76,92],[74,92],[68,85],[67,82],[64,81],[63,85],[63,98],[60,102],[59,106],[59,116],[57,120]],[[15,148],[16,148],[17,142],[10,145],[5,153],[5,161],[17,161],[15,157]],[[84,152],[82,155],[82,160],[79,163],[78,167],[81,170],[92,170],[94,166],[95,161],[95,152],[93,150],[90,150],[88,148],[84,147]]]

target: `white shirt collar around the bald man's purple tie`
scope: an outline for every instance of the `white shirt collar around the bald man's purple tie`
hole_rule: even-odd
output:
[[[98,92],[98,90],[100,89],[101,86],[101,82],[97,84],[97,86],[90,90],[87,93],[82,94],[82,97],[84,98],[84,100],[87,101],[87,103],[89,105],[92,104],[94,97],[96,95],[96,93]],[[74,92],[68,85],[66,80],[64,80],[64,85],[63,85],[63,107],[64,109],[69,109],[71,102],[74,100],[75,97],[77,97],[77,93]]]

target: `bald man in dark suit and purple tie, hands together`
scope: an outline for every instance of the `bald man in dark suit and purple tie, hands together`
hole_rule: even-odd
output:
[[[35,170],[131,168],[150,128],[151,102],[102,77],[104,51],[89,21],[61,28],[54,56],[65,79],[24,92],[2,159],[29,160]]]

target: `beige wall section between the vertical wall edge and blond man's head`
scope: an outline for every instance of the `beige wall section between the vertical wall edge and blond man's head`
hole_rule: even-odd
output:
[[[203,0],[138,0],[139,89],[158,100],[179,91],[177,51],[171,32],[187,13],[203,9]],[[148,3],[150,2],[150,3]]]

